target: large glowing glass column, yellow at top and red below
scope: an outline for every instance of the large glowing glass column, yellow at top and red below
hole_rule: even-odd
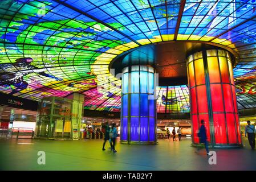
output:
[[[192,144],[200,144],[197,132],[204,119],[212,147],[241,147],[230,53],[222,49],[202,50],[189,55],[187,64]]]

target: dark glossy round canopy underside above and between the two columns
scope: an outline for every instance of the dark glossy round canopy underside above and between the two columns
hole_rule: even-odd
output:
[[[159,86],[188,84],[186,57],[202,48],[220,48],[198,42],[164,42],[135,48],[113,59],[115,75],[128,65],[152,65],[159,74]]]

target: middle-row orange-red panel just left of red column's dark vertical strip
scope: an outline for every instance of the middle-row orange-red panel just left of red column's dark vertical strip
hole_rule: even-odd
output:
[[[197,86],[198,113],[208,113],[208,101],[206,95],[206,86]]]

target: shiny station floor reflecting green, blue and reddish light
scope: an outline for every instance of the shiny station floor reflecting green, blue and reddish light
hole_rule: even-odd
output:
[[[102,151],[101,139],[39,140],[0,138],[0,170],[256,170],[256,151],[244,148],[220,150],[217,164],[208,163],[204,149],[196,153],[191,140],[159,139],[155,146],[117,143],[117,153]],[[106,148],[109,147],[107,143]],[[39,165],[38,151],[46,152],[46,164]]]

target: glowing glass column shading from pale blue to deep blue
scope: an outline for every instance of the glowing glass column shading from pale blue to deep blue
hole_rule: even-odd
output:
[[[123,69],[121,143],[156,144],[155,69],[132,65]]]

